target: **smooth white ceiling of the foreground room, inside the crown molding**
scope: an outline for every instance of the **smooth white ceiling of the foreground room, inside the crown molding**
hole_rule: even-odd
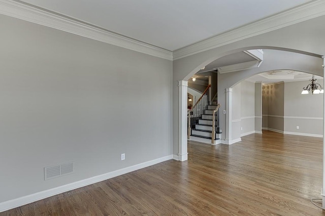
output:
[[[23,0],[175,51],[310,0]]]

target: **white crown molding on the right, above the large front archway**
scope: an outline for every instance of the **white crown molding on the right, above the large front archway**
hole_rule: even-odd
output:
[[[315,0],[175,50],[173,60],[325,15],[325,1]]]

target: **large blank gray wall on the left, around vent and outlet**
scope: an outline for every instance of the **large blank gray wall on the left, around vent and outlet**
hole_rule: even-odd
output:
[[[0,202],[172,155],[171,61],[0,20]]]

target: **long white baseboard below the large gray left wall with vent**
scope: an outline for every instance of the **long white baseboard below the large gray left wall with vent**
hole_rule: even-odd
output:
[[[122,169],[107,172],[106,174],[103,174],[103,175],[94,176],[94,177],[91,177],[91,178],[88,178],[88,179],[84,179],[84,180],[74,182],[74,183],[70,183],[70,184],[67,184],[67,185],[62,185],[62,186],[52,188],[52,189],[49,189],[49,190],[45,190],[45,191],[41,191],[41,192],[38,192],[38,193],[35,193],[35,194],[30,194],[30,195],[27,195],[27,196],[23,196],[23,197],[19,197],[19,198],[16,198],[16,199],[8,200],[8,201],[0,203],[0,212],[6,211],[6,210],[9,210],[9,209],[12,209],[12,208],[16,208],[16,207],[19,207],[19,206],[22,206],[22,205],[25,205],[25,204],[28,204],[28,203],[31,203],[31,202],[35,202],[35,201],[38,201],[38,200],[41,200],[41,199],[45,199],[47,197],[54,196],[54,195],[57,195],[57,194],[60,194],[60,193],[64,193],[64,192],[67,192],[67,191],[70,191],[70,190],[74,190],[74,189],[81,188],[81,187],[84,187],[84,186],[87,186],[87,185],[91,185],[91,184],[94,184],[94,183],[97,183],[97,182],[101,182],[101,181],[104,181],[104,180],[107,180],[107,179],[111,179],[111,178],[114,178],[114,177],[117,177],[117,176],[120,176],[120,175],[123,175],[123,174],[127,174],[128,172],[132,172],[132,171],[135,171],[135,170],[138,170],[138,169],[145,168],[147,166],[151,166],[151,165],[154,165],[154,164],[157,164],[157,163],[161,163],[161,162],[164,162],[164,161],[167,161],[167,160],[171,160],[173,158],[174,158],[174,155],[168,155],[168,156],[157,158],[157,159],[150,160],[150,161],[147,161],[147,162],[139,163],[139,164],[136,164],[136,165],[133,165],[133,166],[128,166],[128,167],[125,167],[125,168],[122,168]],[[177,158],[178,158],[178,156],[177,156]]]

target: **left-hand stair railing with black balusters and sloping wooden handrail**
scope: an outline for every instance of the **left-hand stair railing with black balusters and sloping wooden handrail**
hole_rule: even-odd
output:
[[[192,106],[191,109],[187,109],[187,122],[188,122],[188,128],[187,128],[187,139],[189,139],[189,136],[191,135],[191,128],[194,127],[195,124],[199,123],[199,119],[204,114],[204,110],[208,108],[210,105],[209,100],[209,89],[211,88],[211,85],[208,85],[208,87],[203,92],[202,96],[199,98],[199,100]]]

